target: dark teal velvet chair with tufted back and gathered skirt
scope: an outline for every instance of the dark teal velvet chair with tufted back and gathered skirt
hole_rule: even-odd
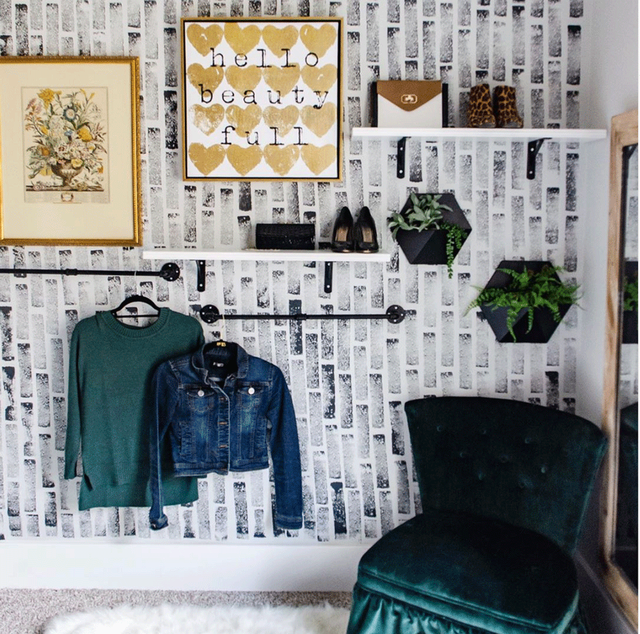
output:
[[[498,398],[405,404],[422,514],[363,555],[348,634],[578,634],[572,554],[606,440]]]

